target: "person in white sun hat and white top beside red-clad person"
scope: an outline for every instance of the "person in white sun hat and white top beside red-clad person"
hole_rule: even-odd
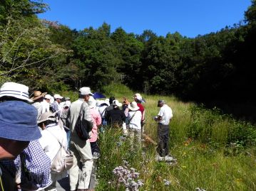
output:
[[[141,112],[139,111],[139,107],[136,102],[131,102],[128,105],[128,131],[130,139],[133,142],[138,141],[141,142]]]

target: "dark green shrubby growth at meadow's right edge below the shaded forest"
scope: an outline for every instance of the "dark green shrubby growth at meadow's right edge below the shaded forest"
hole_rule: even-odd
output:
[[[201,106],[190,107],[191,121],[187,135],[202,143],[220,143],[229,146],[239,143],[241,146],[255,145],[256,129],[249,123],[236,121],[221,114],[219,109],[205,109]]]

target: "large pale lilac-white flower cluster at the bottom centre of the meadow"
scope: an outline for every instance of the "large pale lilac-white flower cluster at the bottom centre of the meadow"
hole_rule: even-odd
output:
[[[143,185],[141,180],[138,180],[140,173],[135,172],[135,168],[128,168],[128,162],[123,160],[124,165],[118,166],[113,170],[116,175],[117,183],[123,184],[127,191],[138,191],[139,187]]]

